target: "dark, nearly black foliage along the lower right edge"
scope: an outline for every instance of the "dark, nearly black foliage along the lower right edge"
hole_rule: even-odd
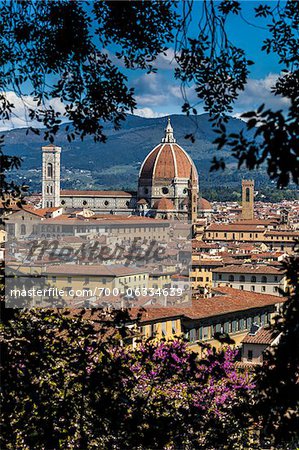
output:
[[[272,329],[280,341],[270,348],[264,364],[257,369],[257,395],[254,414],[261,419],[265,442],[278,446],[299,442],[299,256],[283,263],[290,283],[288,299],[277,315]],[[293,448],[293,447],[291,447]]]

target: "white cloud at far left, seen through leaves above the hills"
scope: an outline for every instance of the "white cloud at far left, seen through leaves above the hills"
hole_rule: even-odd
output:
[[[0,131],[11,130],[13,128],[24,127],[42,127],[40,122],[30,120],[28,116],[28,109],[37,108],[37,102],[30,95],[18,96],[13,91],[2,92],[1,95],[9,103],[13,104],[11,117],[9,120],[0,121]],[[4,99],[0,99],[0,103],[4,102]],[[0,105],[2,107],[2,105]],[[64,105],[59,98],[53,98],[46,102],[46,107],[52,106],[55,111],[64,113]]]

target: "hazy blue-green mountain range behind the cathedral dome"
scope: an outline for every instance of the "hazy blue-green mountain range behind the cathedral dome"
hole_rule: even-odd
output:
[[[172,115],[171,123],[177,142],[191,155],[200,174],[202,186],[223,184],[239,185],[246,172],[236,171],[236,162],[229,151],[223,150],[228,170],[209,173],[212,157],[217,153],[213,140],[216,135],[209,122],[209,116],[195,117]],[[62,147],[62,186],[76,188],[136,188],[140,164],[149,151],[156,146],[164,135],[166,118],[146,119],[128,115],[120,130],[113,130],[111,124],[104,127],[108,140],[105,144],[93,142],[88,136],[84,141],[69,143],[65,126],[62,125],[55,138],[55,144]],[[227,124],[229,132],[239,132],[244,123],[231,118]],[[194,144],[185,139],[185,135],[195,133]],[[32,189],[39,189],[41,147],[45,145],[42,136],[33,133],[26,135],[26,129],[15,129],[5,133],[5,150],[11,155],[23,158],[23,180],[29,181]],[[81,172],[83,171],[83,172]],[[259,174],[253,174],[259,176]],[[18,175],[19,176],[19,175]],[[252,174],[250,174],[252,177]]]

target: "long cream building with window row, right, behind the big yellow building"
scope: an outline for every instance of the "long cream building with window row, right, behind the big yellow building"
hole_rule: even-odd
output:
[[[287,286],[281,267],[266,264],[232,264],[212,269],[213,286],[230,286],[241,291],[281,296]]]

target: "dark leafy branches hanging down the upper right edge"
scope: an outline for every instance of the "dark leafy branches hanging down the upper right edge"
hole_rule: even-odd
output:
[[[256,111],[241,115],[247,121],[247,131],[254,129],[253,138],[248,133],[227,134],[221,124],[216,130],[215,140],[220,150],[231,148],[239,167],[246,164],[248,169],[259,168],[265,161],[269,178],[277,181],[278,187],[285,187],[290,181],[298,184],[298,136],[299,136],[299,3],[288,1],[285,8],[279,4],[255,8],[256,17],[269,17],[271,37],[264,41],[262,50],[277,53],[283,65],[282,74],[272,87],[274,95],[283,96],[289,101],[287,113],[265,109],[261,105]],[[223,160],[215,161],[213,169],[225,165]]]

